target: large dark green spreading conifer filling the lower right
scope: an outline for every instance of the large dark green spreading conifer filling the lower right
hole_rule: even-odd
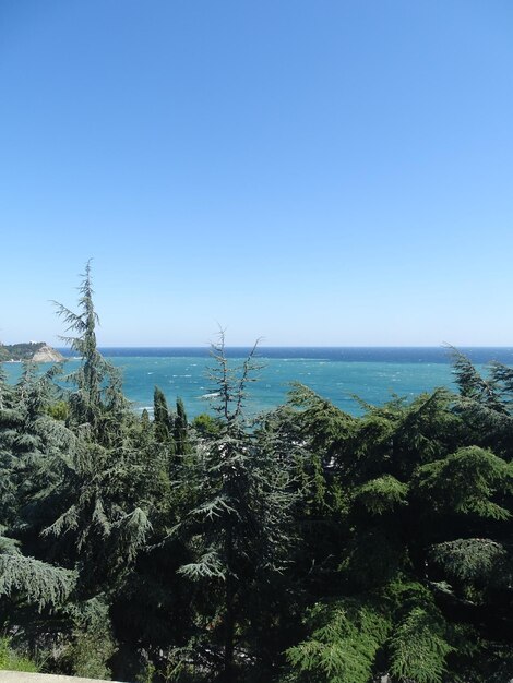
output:
[[[511,469],[472,445],[498,433],[505,443],[504,409],[489,397],[439,390],[337,427],[336,411],[301,390],[296,421],[321,457],[339,540],[307,612],[310,635],[287,651],[287,681],[501,680],[513,633]],[[475,435],[468,416],[482,402],[488,429]]]

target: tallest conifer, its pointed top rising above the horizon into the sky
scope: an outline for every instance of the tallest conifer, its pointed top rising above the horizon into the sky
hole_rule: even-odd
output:
[[[119,583],[151,524],[138,420],[122,395],[119,373],[96,346],[91,262],[79,290],[79,313],[58,304],[68,329],[77,335],[67,340],[82,359],[67,378],[74,385],[69,423],[77,443],[59,490],[63,510],[45,534],[67,546],[74,540],[83,589],[95,595],[105,582]]]

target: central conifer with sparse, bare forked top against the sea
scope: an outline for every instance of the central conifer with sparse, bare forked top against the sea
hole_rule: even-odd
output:
[[[239,680],[247,663],[239,648],[248,646],[243,634],[251,621],[250,596],[284,567],[294,500],[287,472],[256,447],[244,421],[246,387],[258,367],[254,350],[238,374],[228,364],[223,336],[213,348],[219,432],[203,439],[189,457],[196,470],[195,506],[176,528],[192,555],[180,572],[199,584],[202,611],[211,606],[203,615],[210,614],[210,645],[204,645],[205,633],[198,644],[213,654],[220,647],[220,668],[215,658],[210,667],[225,683]]]

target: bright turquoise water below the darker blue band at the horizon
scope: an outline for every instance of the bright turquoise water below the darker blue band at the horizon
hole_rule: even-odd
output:
[[[157,384],[168,400],[181,396],[191,415],[208,407],[208,394],[216,391],[208,380],[210,360],[198,358],[112,358],[123,368],[127,396],[139,405],[151,406]],[[232,359],[232,366],[237,366]],[[248,409],[259,411],[284,403],[291,382],[301,382],[344,410],[355,412],[354,394],[369,403],[383,403],[392,392],[414,396],[426,388],[451,382],[449,366],[374,362],[333,362],[323,359],[265,359],[265,367],[248,390]]]

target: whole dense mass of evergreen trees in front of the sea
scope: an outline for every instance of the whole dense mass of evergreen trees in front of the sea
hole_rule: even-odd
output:
[[[119,680],[503,683],[513,676],[513,370],[365,405],[296,385],[249,419],[254,352],[213,347],[213,416],[136,415],[96,347],[0,371],[0,668]],[[1,370],[1,369],[0,369]],[[58,381],[57,381],[58,380]],[[63,382],[64,380],[64,382]],[[64,388],[62,388],[64,386]]]

